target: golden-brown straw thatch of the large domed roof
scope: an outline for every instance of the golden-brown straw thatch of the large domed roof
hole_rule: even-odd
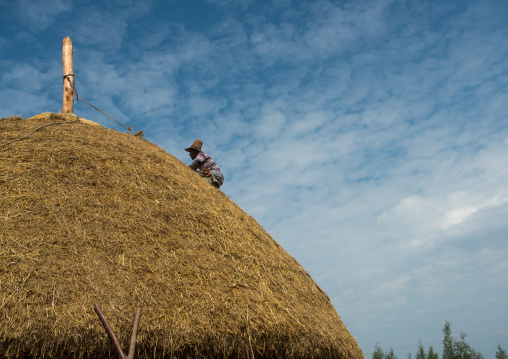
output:
[[[94,303],[125,350],[142,308],[139,358],[363,358],[305,270],[181,161],[72,114],[1,119],[0,357],[116,357]]]

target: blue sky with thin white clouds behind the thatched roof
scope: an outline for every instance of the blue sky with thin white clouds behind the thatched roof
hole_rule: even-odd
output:
[[[445,321],[508,350],[508,2],[0,0],[0,117],[79,95],[189,163],[330,296],[367,358]],[[74,112],[124,131],[82,101]]]

